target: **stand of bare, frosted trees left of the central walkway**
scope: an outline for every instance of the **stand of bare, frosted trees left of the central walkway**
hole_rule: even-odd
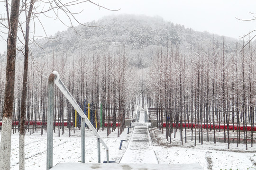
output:
[[[56,70],[87,116],[90,107],[92,125],[97,130],[101,127],[102,104],[102,130],[106,129],[109,135],[117,128],[119,136],[125,128],[125,114],[134,108],[134,102],[131,101],[137,89],[135,70],[129,67],[125,50],[125,47],[95,53],[81,50],[73,56],[66,55],[64,51],[53,51],[46,58],[33,58],[32,55],[28,68],[26,133],[40,131],[43,134],[47,130],[47,80],[49,74]],[[0,120],[3,113],[5,65],[3,60],[0,64]],[[13,121],[18,121],[18,126],[13,127],[13,132],[19,130],[23,61],[18,61],[16,68]],[[70,135],[75,129],[75,110],[55,86],[54,131],[57,130],[59,136],[64,133],[64,122],[67,122]],[[80,122],[77,113],[78,128]],[[120,126],[116,127],[115,122]]]

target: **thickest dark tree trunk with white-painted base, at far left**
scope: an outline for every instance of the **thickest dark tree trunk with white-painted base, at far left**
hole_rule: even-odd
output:
[[[19,0],[11,1],[10,17],[8,6],[8,1],[6,0],[9,33],[7,39],[6,84],[0,144],[0,170],[10,169],[11,126],[14,101],[15,60],[19,16]]]

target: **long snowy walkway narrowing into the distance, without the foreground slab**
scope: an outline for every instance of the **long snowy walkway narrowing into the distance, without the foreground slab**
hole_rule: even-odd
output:
[[[152,148],[148,124],[145,123],[145,111],[140,110],[139,123],[134,127],[128,148],[119,163],[158,163]]]

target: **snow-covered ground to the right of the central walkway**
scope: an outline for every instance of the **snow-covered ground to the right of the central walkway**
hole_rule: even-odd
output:
[[[183,129],[184,130],[184,129]],[[204,136],[206,136],[206,129]],[[236,136],[235,132],[230,132]],[[194,147],[194,140],[187,140],[181,145],[180,132],[176,132],[176,138],[172,135],[172,144],[165,139],[164,134],[157,128],[150,129],[153,139],[153,149],[159,163],[199,163],[204,170],[256,170],[256,144],[246,151],[245,144],[230,144],[228,150],[227,143],[203,142]],[[213,131],[210,132],[213,136]],[[191,131],[187,130],[187,136],[191,136]],[[217,132],[217,136],[223,136],[223,132]],[[184,131],[183,131],[184,137]],[[198,136],[197,136],[198,139]]]

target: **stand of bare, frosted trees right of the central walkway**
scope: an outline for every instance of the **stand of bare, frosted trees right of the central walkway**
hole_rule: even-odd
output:
[[[216,127],[224,124],[224,140],[229,148],[229,128],[234,131],[237,125],[239,130],[233,137],[238,138],[238,143],[244,137],[247,149],[247,139],[253,141],[255,127],[256,48],[250,42],[245,46],[246,43],[226,44],[224,38],[212,38],[185,50],[174,44],[158,48],[144,93],[150,98],[148,106],[157,109],[162,133],[166,122],[166,139],[170,143],[171,134],[175,136],[178,129],[181,143],[187,142],[188,127],[180,126],[183,123],[196,124],[197,128],[191,128],[195,145],[197,140],[203,144],[204,124],[208,141],[209,131],[213,131],[216,143],[215,133],[220,131]],[[247,126],[253,127],[250,132]],[[240,127],[244,127],[243,131]]]

